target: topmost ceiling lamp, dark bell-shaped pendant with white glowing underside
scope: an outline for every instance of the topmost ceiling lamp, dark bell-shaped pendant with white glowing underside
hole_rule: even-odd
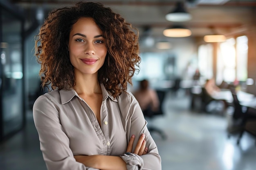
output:
[[[175,9],[171,11],[170,13],[166,14],[165,16],[166,20],[172,21],[172,22],[184,22],[191,20],[191,15],[184,9],[184,3],[183,2],[177,2]]]

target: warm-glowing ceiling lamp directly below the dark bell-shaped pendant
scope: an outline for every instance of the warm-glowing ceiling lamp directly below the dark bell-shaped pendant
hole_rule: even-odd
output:
[[[192,33],[184,26],[172,26],[163,32],[166,37],[189,37]]]

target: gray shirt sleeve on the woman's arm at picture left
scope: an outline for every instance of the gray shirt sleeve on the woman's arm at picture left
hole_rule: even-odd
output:
[[[48,170],[98,170],[76,162],[69,138],[61,126],[58,106],[46,95],[38,97],[34,103],[33,117]]]

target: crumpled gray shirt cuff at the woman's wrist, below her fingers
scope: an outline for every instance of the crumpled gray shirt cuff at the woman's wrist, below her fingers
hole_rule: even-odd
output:
[[[120,156],[126,162],[127,170],[142,170],[143,168],[143,159],[134,153],[129,155],[124,154]]]

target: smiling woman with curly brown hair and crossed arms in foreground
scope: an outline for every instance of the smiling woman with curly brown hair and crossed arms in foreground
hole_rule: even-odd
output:
[[[33,107],[48,170],[161,170],[135,97],[140,62],[132,26],[110,8],[79,2],[49,13],[36,40],[42,86]]]

